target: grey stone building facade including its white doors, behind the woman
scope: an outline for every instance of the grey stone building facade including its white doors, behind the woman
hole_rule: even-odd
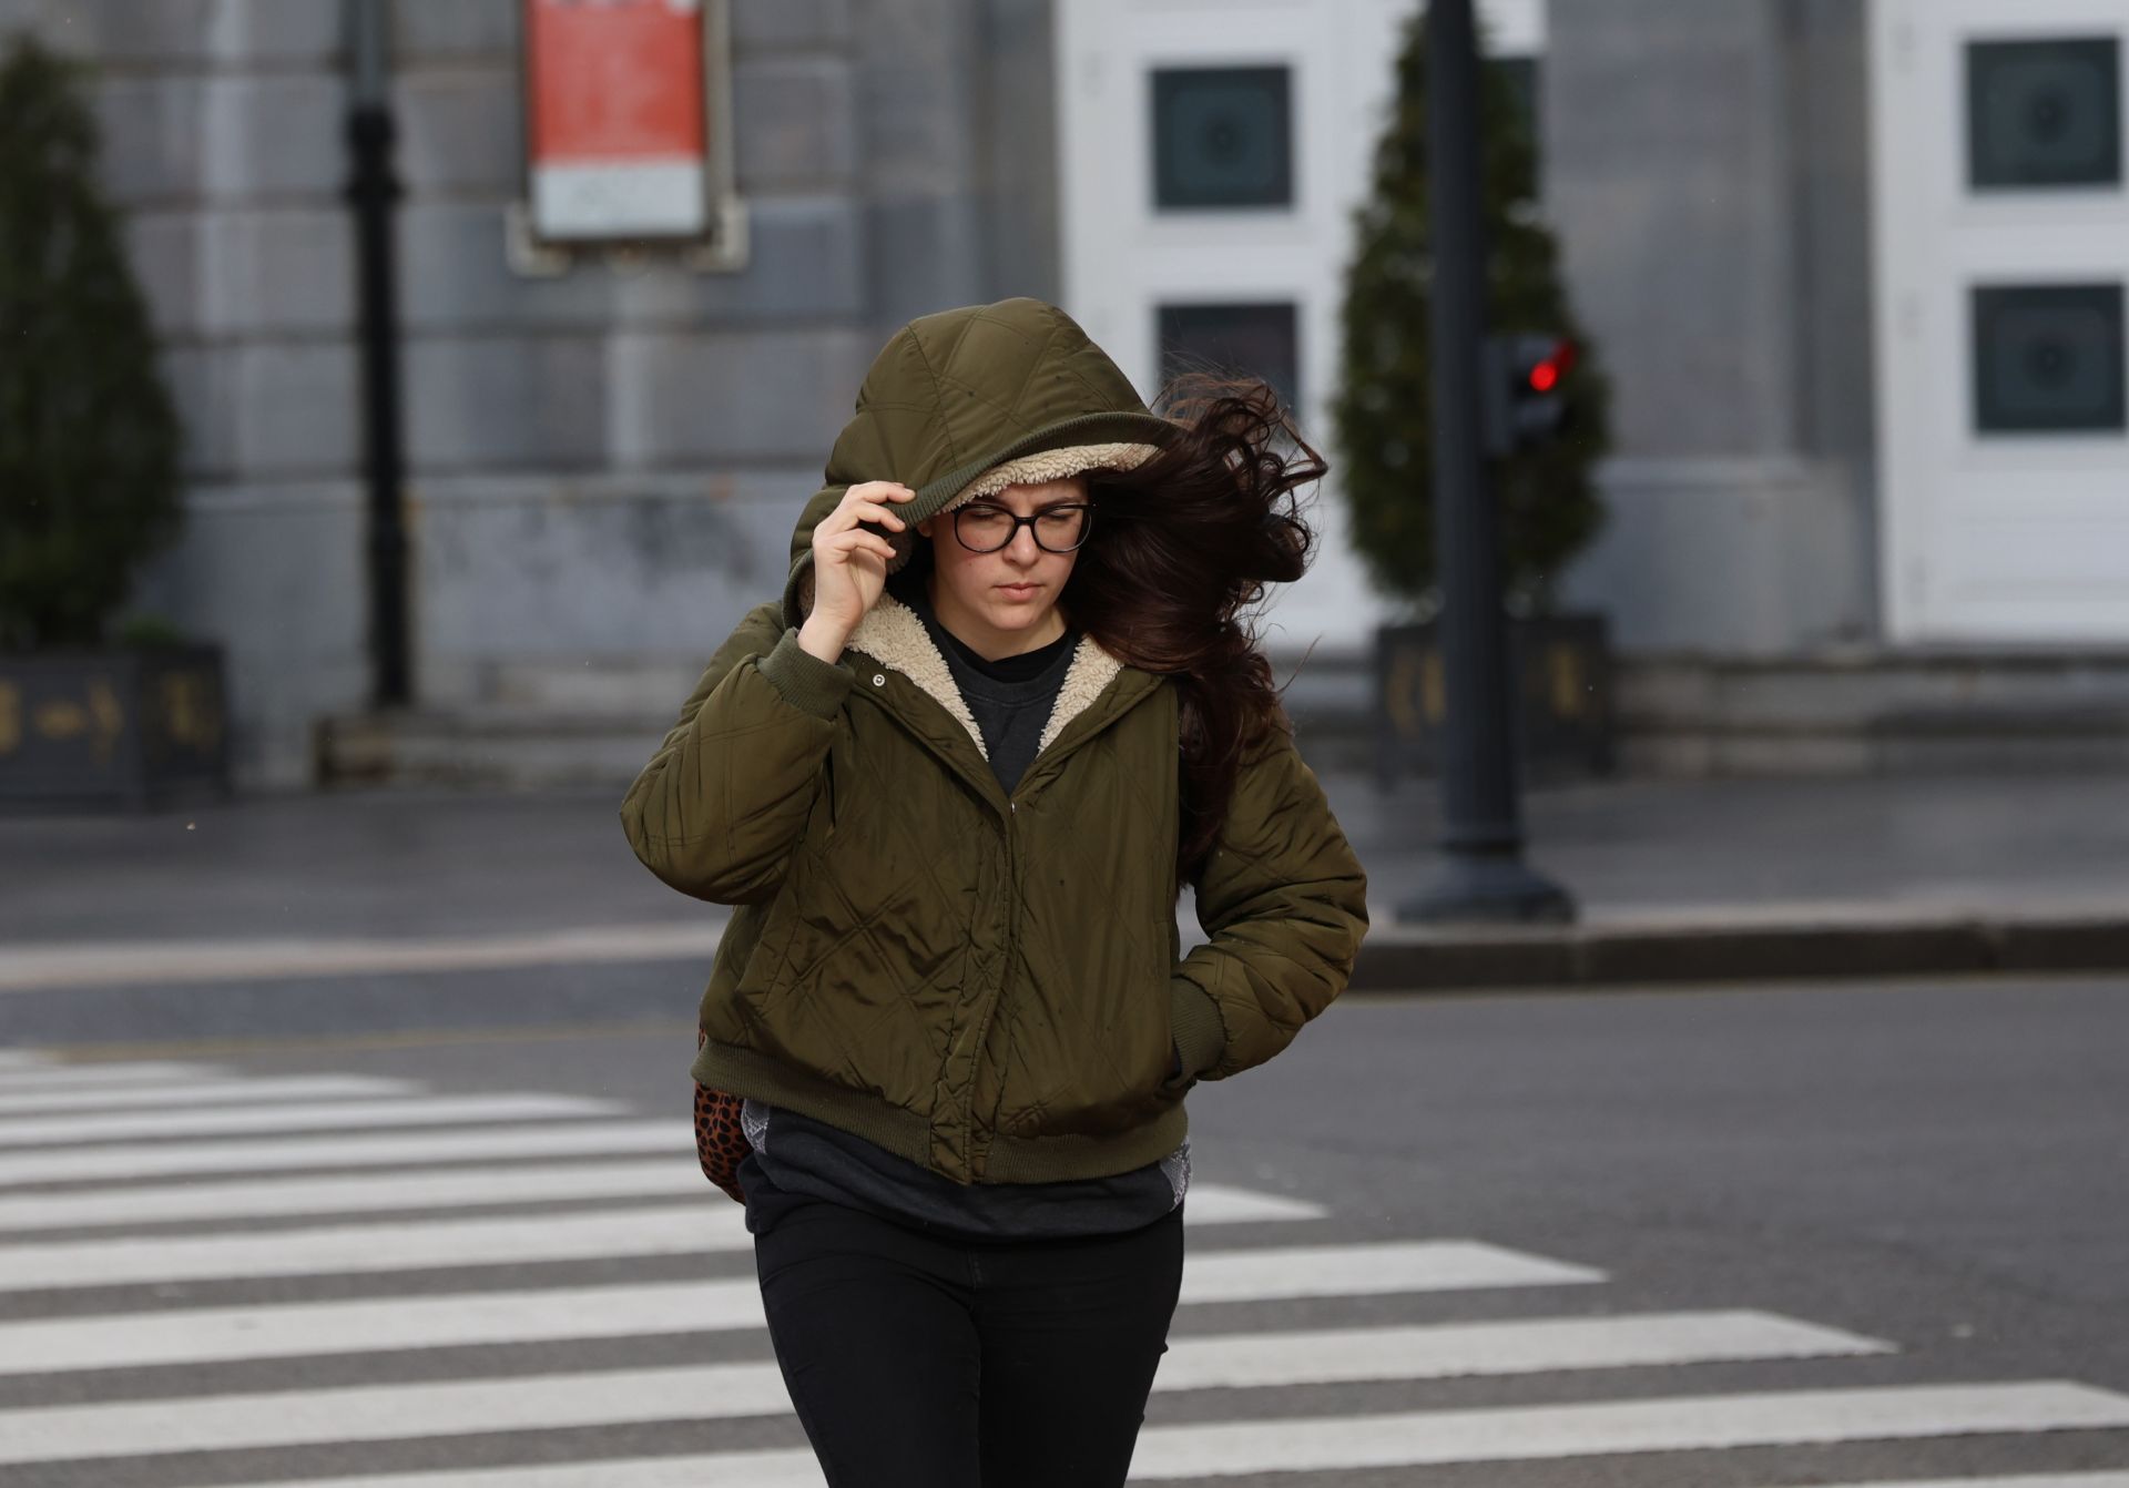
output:
[[[98,68],[185,411],[187,536],[141,607],[228,647],[238,779],[300,788],[321,741],[392,775],[451,717],[626,777],[775,592],[794,505],[911,315],[1052,298],[1152,392],[1158,296],[1292,300],[1288,362],[1320,396],[1369,89],[1407,6],[730,0],[745,268],[539,279],[505,253],[517,2],[396,0],[419,717],[375,747],[321,728],[360,722],[370,688],[341,0],[0,0],[0,32]],[[1644,760],[1695,768],[1761,728],[1773,743],[1733,762],[1793,764],[1808,715],[1831,743],[1805,766],[1848,768],[1882,756],[1871,730],[1976,698],[2012,734],[2076,713],[2072,743],[2120,758],[2123,0],[1484,9],[1535,79],[1544,209],[1618,390],[1610,526],[1563,590],[1612,617],[1629,732],[1701,739]],[[1292,221],[1218,238],[1235,253],[1205,285],[1160,281],[1188,228],[1133,215],[1133,100],[1184,64],[1297,79]],[[2065,138],[2020,136],[2065,113]],[[2061,385],[2020,381],[2063,358]],[[1386,607],[1335,551],[1335,492],[1320,511],[1333,551],[1275,607],[1277,649],[1318,645],[1290,702],[1352,717]],[[1999,645],[2029,647],[2023,671],[1991,671]],[[2035,645],[2061,666],[2035,671]]]

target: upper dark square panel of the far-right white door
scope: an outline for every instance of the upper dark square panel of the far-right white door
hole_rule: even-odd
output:
[[[1967,43],[1967,181],[1976,189],[2120,179],[2120,38]]]

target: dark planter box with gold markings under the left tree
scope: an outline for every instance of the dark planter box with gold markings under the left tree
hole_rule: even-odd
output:
[[[0,811],[228,796],[219,645],[0,654]]]

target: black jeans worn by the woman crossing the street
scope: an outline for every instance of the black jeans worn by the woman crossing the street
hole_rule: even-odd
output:
[[[1169,1352],[1182,1220],[956,1239],[813,1201],[756,1235],[828,1488],[1120,1488]]]

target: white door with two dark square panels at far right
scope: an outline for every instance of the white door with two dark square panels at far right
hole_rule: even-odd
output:
[[[1874,0],[1895,641],[2129,641],[2129,0]]]

